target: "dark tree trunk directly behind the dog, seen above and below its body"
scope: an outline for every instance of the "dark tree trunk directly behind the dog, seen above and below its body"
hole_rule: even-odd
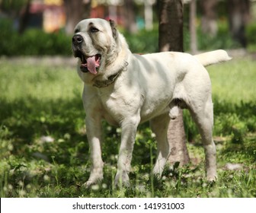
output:
[[[183,0],[159,1],[159,51],[183,52]],[[171,153],[168,162],[187,164],[189,160],[182,110],[168,126],[168,142]]]

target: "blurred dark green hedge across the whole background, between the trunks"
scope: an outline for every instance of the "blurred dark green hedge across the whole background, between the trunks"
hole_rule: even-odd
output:
[[[0,20],[0,56],[42,56],[42,55],[71,55],[71,37],[62,31],[45,33],[39,29],[29,29],[23,34],[17,33],[11,22]],[[254,51],[255,24],[248,26],[247,35],[250,51]],[[139,30],[136,34],[130,34],[121,29],[126,37],[132,52],[146,53],[158,52],[158,27],[153,30]],[[184,49],[189,50],[190,34],[184,24]],[[225,21],[219,22],[219,31],[216,37],[208,37],[202,33],[200,27],[197,30],[198,49],[233,49],[240,47],[232,40]]]

